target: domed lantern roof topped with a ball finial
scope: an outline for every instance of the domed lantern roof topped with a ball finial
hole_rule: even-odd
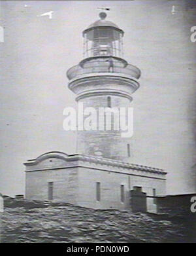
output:
[[[85,29],[83,31],[83,34],[90,31],[91,29],[95,28],[95,27],[114,27],[114,29],[120,31],[121,33],[123,33],[123,30],[120,29],[116,24],[114,24],[113,22],[109,22],[108,20],[105,20],[106,18],[106,13],[105,12],[101,12],[99,14],[99,17],[101,18],[100,20],[97,20],[96,22],[94,22],[93,24],[91,24],[87,29]]]

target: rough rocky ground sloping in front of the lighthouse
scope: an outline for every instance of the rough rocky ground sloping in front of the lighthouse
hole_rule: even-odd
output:
[[[0,216],[1,243],[196,242],[195,221],[186,216],[26,201],[7,204]]]

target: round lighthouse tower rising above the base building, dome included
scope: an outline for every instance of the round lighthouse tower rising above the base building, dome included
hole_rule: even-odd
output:
[[[96,109],[99,122],[96,130],[78,130],[77,153],[128,162],[130,137],[122,137],[118,114],[120,107],[130,107],[131,94],[139,88],[140,69],[122,58],[123,30],[105,20],[105,12],[99,16],[99,20],[83,31],[84,60],[67,71],[69,88],[76,94],[76,101],[84,108]],[[117,115],[112,113],[111,126],[106,123],[110,119],[101,120],[98,113],[101,107],[118,109]],[[127,113],[124,118],[127,122]],[[100,122],[104,123],[103,129]],[[116,130],[115,122],[119,123]]]

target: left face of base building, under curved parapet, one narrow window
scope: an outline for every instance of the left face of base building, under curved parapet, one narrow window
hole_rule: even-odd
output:
[[[52,158],[55,162],[65,166],[65,160]],[[50,159],[43,161],[40,165],[46,168]],[[39,168],[41,167],[39,166]],[[37,166],[34,166],[36,169]],[[29,200],[48,200],[48,183],[53,182],[54,201],[69,202],[76,204],[78,197],[78,169],[65,166],[52,170],[27,171],[25,173],[25,198]]]

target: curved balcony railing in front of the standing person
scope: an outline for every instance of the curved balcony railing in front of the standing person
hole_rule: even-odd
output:
[[[140,77],[140,69],[134,65],[127,64],[124,66],[120,62],[112,62],[112,65],[110,65],[110,63],[106,61],[88,62],[83,67],[74,65],[67,71],[67,77],[71,80],[90,73],[121,73],[136,79]]]

